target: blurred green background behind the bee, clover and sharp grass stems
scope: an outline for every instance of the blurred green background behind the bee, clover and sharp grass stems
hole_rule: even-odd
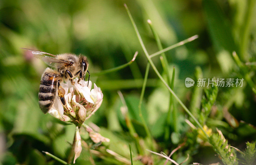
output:
[[[143,139],[145,130],[141,126],[138,104],[147,59],[124,3],[131,11],[149,54],[158,48],[147,19],[151,19],[164,48],[199,35],[195,41],[166,52],[171,72],[175,66],[174,92],[187,107],[190,107],[194,89],[186,88],[184,81],[186,77],[195,78],[196,66],[201,67],[203,77],[207,79],[243,78],[244,72],[233,60],[232,51],[237,52],[243,63],[255,61],[255,0],[1,0],[0,164],[60,164],[41,151],[66,160],[69,143],[74,137],[74,125],[63,125],[39,109],[39,83],[47,66],[26,54],[21,47],[51,54],[72,52],[87,56],[91,80],[101,87],[104,97],[100,109],[86,123],[97,124],[100,133],[111,140],[104,147],[130,160],[127,145],[132,143],[133,156],[136,157],[134,139],[128,133],[120,111],[122,104],[117,91],[123,93],[128,114]],[[127,63],[135,51],[139,54],[129,67],[105,75],[93,75]],[[152,59],[160,73],[163,72],[159,56]],[[246,65],[245,69],[255,82],[255,65]],[[150,68],[142,113],[156,140],[155,151],[168,154],[178,143],[188,139],[186,145],[174,154],[173,159],[177,162],[182,162],[187,153],[190,154],[187,163],[220,161],[211,147],[193,140],[193,133],[186,133],[190,130],[184,121],[187,115],[177,101],[174,102],[179,129],[169,140],[164,140],[169,95]],[[201,97],[199,103],[200,100]],[[240,88],[220,87],[214,112],[206,124],[213,131],[218,127],[232,146],[243,151],[245,142],[255,140],[256,130],[252,126],[256,125],[255,101],[255,94],[246,81]],[[224,109],[228,109],[231,118],[225,116]],[[234,124],[235,119],[238,122]],[[88,134],[84,133],[83,138],[88,139]],[[89,139],[87,141],[92,143]],[[104,155],[103,159],[99,155],[90,155],[87,150],[83,148],[77,164],[92,163],[91,156],[95,164],[123,164],[113,155]],[[101,150],[104,148],[99,148]],[[164,161],[160,157],[152,159],[155,164]]]

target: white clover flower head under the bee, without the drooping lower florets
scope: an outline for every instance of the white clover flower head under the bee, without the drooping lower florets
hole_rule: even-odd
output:
[[[74,81],[75,85],[71,85],[69,81],[60,84],[65,90],[64,98],[67,106],[63,106],[58,96],[56,96],[48,113],[61,121],[77,120],[83,123],[100,108],[103,93],[96,84],[94,84],[94,89],[91,89],[91,81],[89,81],[88,86],[88,81],[80,80],[79,84],[77,79]]]

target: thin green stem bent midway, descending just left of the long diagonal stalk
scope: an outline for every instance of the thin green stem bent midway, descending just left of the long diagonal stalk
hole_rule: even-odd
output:
[[[145,72],[145,77],[144,77],[144,81],[143,81],[141,93],[140,93],[139,116],[140,116],[140,119],[141,119],[141,121],[142,121],[143,127],[144,127],[144,129],[146,130],[147,137],[148,137],[148,139],[150,139],[151,147],[152,147],[152,149],[155,149],[155,148],[154,148],[154,144],[153,144],[152,136],[151,136],[151,134],[150,134],[150,131],[149,131],[149,129],[148,129],[148,126],[147,126],[147,124],[146,124],[146,121],[145,121],[144,117],[142,116],[142,111],[141,111],[141,104],[142,104],[142,101],[143,101],[143,97],[144,97],[144,93],[145,93],[145,88],[146,88],[146,84],[147,84],[147,80],[148,80],[149,67],[150,67],[150,64],[148,63],[148,64],[147,64],[147,67],[146,67],[146,72]]]

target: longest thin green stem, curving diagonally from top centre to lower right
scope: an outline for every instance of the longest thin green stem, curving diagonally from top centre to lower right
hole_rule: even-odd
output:
[[[146,47],[145,47],[145,45],[144,45],[144,43],[143,43],[143,41],[142,41],[142,39],[141,39],[139,30],[138,30],[138,28],[137,28],[137,26],[136,26],[136,24],[135,24],[135,22],[134,22],[134,20],[133,20],[133,18],[132,18],[132,15],[131,15],[131,13],[130,13],[128,7],[127,7],[127,5],[124,4],[124,7],[125,7],[125,9],[126,9],[128,15],[129,15],[129,17],[130,17],[130,20],[131,20],[131,22],[132,22],[133,28],[134,28],[134,30],[135,30],[135,32],[136,32],[136,34],[137,34],[137,37],[138,37],[138,39],[139,39],[139,41],[140,41],[140,45],[141,45],[141,47],[142,47],[142,49],[143,49],[143,51],[144,51],[146,57],[148,58],[148,62],[150,63],[150,65],[152,66],[152,68],[154,69],[154,71],[156,72],[156,74],[157,74],[157,76],[159,77],[159,79],[160,79],[160,80],[163,82],[163,84],[166,86],[166,88],[171,92],[171,94],[174,96],[174,98],[180,103],[181,107],[188,113],[188,115],[196,122],[196,124],[197,124],[197,125],[199,126],[199,128],[204,132],[205,136],[206,136],[207,139],[209,140],[209,136],[208,136],[208,135],[206,134],[206,132],[204,131],[202,125],[201,125],[201,124],[196,120],[196,118],[191,114],[191,112],[188,110],[188,108],[183,104],[183,102],[179,99],[179,97],[173,92],[173,90],[170,88],[170,86],[168,86],[168,84],[164,81],[164,79],[163,79],[163,77],[161,76],[161,74],[160,74],[160,73],[158,72],[158,70],[156,69],[155,64],[153,63],[153,61],[151,60],[151,58],[150,58],[149,55],[148,55],[148,51],[147,51],[147,49],[146,49]]]

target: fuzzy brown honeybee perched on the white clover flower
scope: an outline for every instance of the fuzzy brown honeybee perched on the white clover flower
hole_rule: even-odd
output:
[[[88,71],[88,60],[85,56],[76,56],[75,54],[60,54],[52,55],[50,53],[21,48],[31,51],[31,53],[39,59],[42,59],[48,64],[55,64],[57,70],[46,68],[42,74],[39,93],[38,103],[40,109],[46,114],[54,103],[55,97],[60,97],[60,101],[68,109],[66,100],[64,98],[65,90],[60,86],[60,82],[69,79],[71,84],[74,85],[74,78],[78,77],[77,83],[81,79],[84,79],[86,71],[89,73],[88,84],[90,79],[90,72]],[[87,86],[88,86],[87,84]]]

